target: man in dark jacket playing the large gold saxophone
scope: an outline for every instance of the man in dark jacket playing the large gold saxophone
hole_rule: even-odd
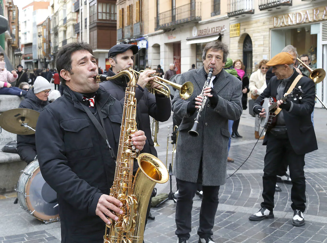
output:
[[[65,89],[38,120],[40,169],[58,195],[61,242],[100,243],[105,224],[118,218],[112,212],[124,213],[119,208],[122,203],[108,195],[116,167],[122,104],[95,82],[98,68],[89,44],[63,46],[56,66]],[[139,150],[145,141],[143,131],[132,135]]]

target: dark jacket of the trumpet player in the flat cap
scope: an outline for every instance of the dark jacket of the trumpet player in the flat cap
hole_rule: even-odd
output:
[[[114,73],[111,69],[108,70],[108,76],[113,76]],[[127,80],[125,77],[115,80],[105,81],[100,84],[107,92],[118,100],[123,100],[125,97]],[[153,95],[142,88],[137,88],[135,91],[136,97],[136,116],[138,128],[144,131],[146,136],[146,145],[142,152],[150,153],[157,156],[157,151],[154,148],[152,140],[150,117],[153,117],[159,122],[165,122],[169,119],[171,114],[170,99],[166,97],[160,97],[159,95]]]

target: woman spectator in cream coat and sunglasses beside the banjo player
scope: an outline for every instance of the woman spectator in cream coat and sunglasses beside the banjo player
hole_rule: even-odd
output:
[[[251,74],[249,89],[251,92],[251,99],[256,100],[258,96],[266,89],[267,83],[266,81],[266,73],[269,67],[266,65],[268,60],[261,60],[259,62],[259,69]],[[251,109],[252,107],[250,107]],[[258,116],[255,117],[255,126],[254,126],[254,137],[255,139],[259,138],[259,129],[260,129],[260,118]],[[265,136],[260,137],[260,139],[264,139]]]

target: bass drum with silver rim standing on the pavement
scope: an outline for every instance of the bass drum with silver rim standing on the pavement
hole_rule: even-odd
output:
[[[20,206],[44,223],[59,221],[57,193],[44,181],[39,161],[32,161],[20,175],[17,183]]]

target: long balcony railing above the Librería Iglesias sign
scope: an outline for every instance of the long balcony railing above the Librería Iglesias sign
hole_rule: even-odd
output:
[[[192,2],[177,8],[159,13],[154,18],[155,30],[165,29],[167,27],[182,24],[191,21],[201,20],[201,2]]]

